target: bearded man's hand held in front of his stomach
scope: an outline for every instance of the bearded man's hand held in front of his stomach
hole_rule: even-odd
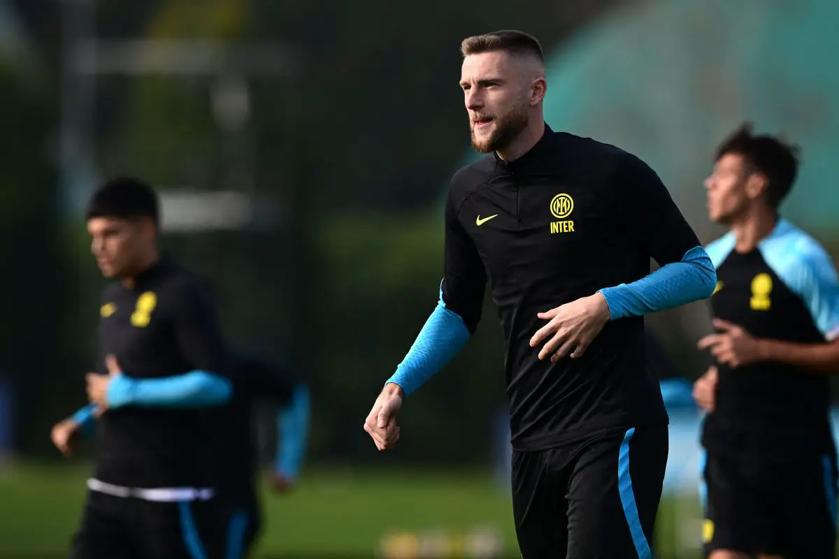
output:
[[[595,293],[537,316],[550,322],[534,334],[530,347],[550,338],[539,351],[539,360],[550,357],[550,362],[556,363],[569,353],[572,359],[583,355],[591,340],[600,334],[610,313],[606,298],[602,293]]]

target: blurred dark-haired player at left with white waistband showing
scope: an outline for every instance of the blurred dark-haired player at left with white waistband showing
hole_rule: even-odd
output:
[[[137,179],[113,179],[87,212],[91,251],[117,280],[102,293],[98,373],[118,362],[108,406],[96,428],[96,466],[88,481],[75,559],[213,556],[210,412],[231,383],[211,299],[197,277],[159,254],[159,203]],[[190,372],[191,371],[191,372]],[[190,401],[171,375],[190,373]],[[97,375],[88,375],[88,390]],[[138,382],[153,380],[142,388]],[[159,381],[158,381],[159,380]],[[94,383],[95,384],[95,383]],[[173,406],[135,405],[149,398]]]

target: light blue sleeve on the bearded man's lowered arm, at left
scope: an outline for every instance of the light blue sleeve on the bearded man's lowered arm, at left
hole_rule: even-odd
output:
[[[446,308],[440,288],[440,302],[387,382],[399,385],[405,396],[410,396],[454,359],[471,337],[463,319]]]

